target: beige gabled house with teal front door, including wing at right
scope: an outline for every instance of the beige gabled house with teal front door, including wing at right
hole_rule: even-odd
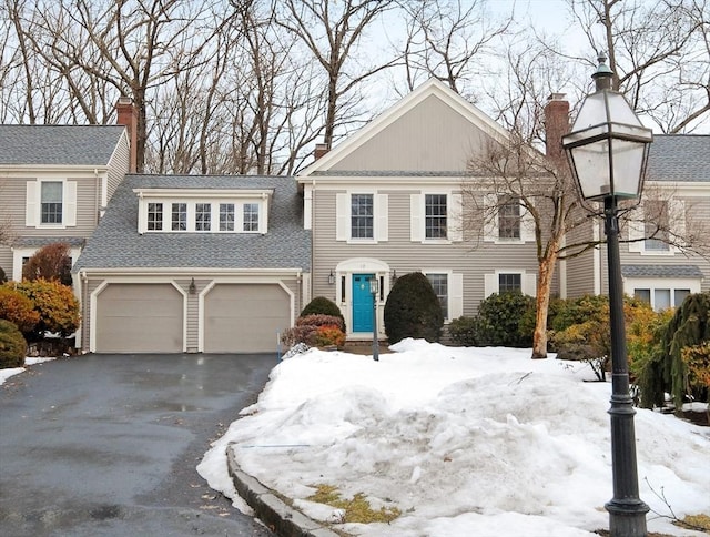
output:
[[[557,151],[569,125],[569,105],[561,97],[554,94],[546,107],[548,145]],[[536,245],[524,210],[517,203],[501,206],[483,236],[463,217],[471,207],[463,205],[462,189],[485,179],[477,179],[469,163],[507,136],[476,107],[430,80],[332,151],[318,148],[320,158],[296,176],[304,192],[304,223],[313,231],[312,294],[339,305],[348,338],[373,336],[373,308],[377,333],[384,335],[384,304],[397,274],[427,275],[446,322],[474,315],[493,293],[535,295]],[[710,136],[657,136],[648,178],[647,200],[637,212],[652,204],[651,192],[665,191],[666,217],[679,235],[686,221],[710,221]],[[576,233],[599,239],[600,225],[590,223]],[[710,288],[707,259],[640,240],[638,231],[626,231],[633,241],[623,246],[627,293],[658,308]],[[551,294],[606,293],[606,270],[601,247],[558,262]],[[376,296],[371,278],[378,283]]]

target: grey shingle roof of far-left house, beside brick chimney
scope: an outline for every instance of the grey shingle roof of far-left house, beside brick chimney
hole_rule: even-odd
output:
[[[106,165],[124,129],[0,125],[0,165]]]

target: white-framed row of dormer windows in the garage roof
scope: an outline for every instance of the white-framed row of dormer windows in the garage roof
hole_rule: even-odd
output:
[[[271,190],[135,189],[134,192],[139,196],[139,233],[267,232]],[[163,210],[170,219],[166,225]]]

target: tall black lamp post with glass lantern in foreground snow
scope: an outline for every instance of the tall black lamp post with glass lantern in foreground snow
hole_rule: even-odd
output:
[[[604,202],[609,265],[609,317],[611,324],[611,472],[613,498],[606,504],[611,537],[645,537],[649,507],[639,498],[633,430],[633,403],[629,394],[621,262],[619,259],[618,201],[641,195],[648,150],[653,141],[627,100],[611,89],[613,72],[599,55],[592,75],[596,92],[579,110],[562,146],[580,196]]]

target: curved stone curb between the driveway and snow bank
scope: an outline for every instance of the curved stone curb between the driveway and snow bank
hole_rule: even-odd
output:
[[[254,509],[256,517],[280,537],[341,537],[321,523],[286,505],[271,488],[242,472],[231,445],[226,448],[226,465],[236,492]]]

